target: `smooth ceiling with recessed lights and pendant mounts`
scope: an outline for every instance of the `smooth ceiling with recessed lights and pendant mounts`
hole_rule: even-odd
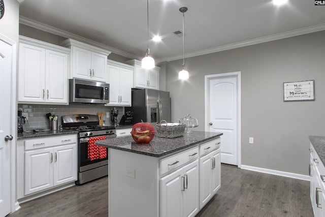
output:
[[[61,36],[75,34],[128,57],[145,55],[146,0],[20,1],[23,24],[40,29],[55,27],[54,32],[63,30]],[[325,29],[325,6],[315,6],[313,0],[289,0],[281,7],[274,6],[271,0],[150,0],[149,37],[163,37],[159,43],[149,42],[156,61],[182,58],[182,37],[173,34],[182,30],[180,7],[188,8],[185,56]]]

